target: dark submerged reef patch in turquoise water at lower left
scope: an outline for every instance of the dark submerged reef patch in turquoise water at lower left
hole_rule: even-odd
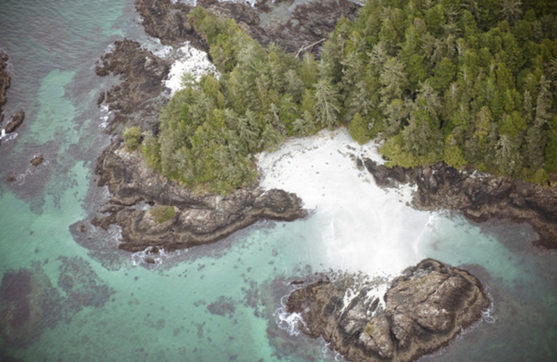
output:
[[[61,256],[58,287],[39,262],[9,270],[0,284],[0,345],[26,347],[45,329],[69,322],[79,310],[101,308],[114,290],[104,284],[85,260]]]

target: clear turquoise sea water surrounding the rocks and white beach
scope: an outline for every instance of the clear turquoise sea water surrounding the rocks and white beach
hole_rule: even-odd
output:
[[[155,43],[131,0],[0,1],[12,74],[4,111],[26,111],[17,139],[0,145],[0,361],[338,359],[276,322],[285,281],[327,268],[311,217],[259,223],[151,269],[109,237],[92,240],[104,243],[96,250],[74,241],[70,226],[102,195],[92,168],[109,143],[95,100],[111,80],[93,67],[125,36]],[[37,154],[45,163],[33,167]],[[556,360],[555,253],[524,242],[527,226],[437,214],[428,225],[421,253],[476,274],[494,306],[422,360]]]

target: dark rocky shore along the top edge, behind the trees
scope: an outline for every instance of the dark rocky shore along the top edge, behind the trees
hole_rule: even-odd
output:
[[[297,52],[327,38],[341,16],[353,19],[360,8],[348,0],[313,1],[294,8],[294,0],[258,1],[253,7],[218,0],[198,0],[196,4],[219,17],[232,17],[262,45],[274,42],[286,52]],[[170,0],[136,0],[135,6],[146,32],[162,44],[176,47],[188,40],[194,47],[208,51],[203,37],[187,22],[191,6]],[[318,56],[320,47],[307,50]]]

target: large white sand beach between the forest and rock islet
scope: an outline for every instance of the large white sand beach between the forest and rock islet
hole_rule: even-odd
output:
[[[381,189],[351,155],[381,162],[375,143],[358,145],[345,129],[292,139],[258,156],[261,186],[285,189],[315,210],[323,264],[349,272],[394,276],[421,260],[417,244],[430,218],[407,205],[413,189]],[[354,159],[352,156],[352,159]]]

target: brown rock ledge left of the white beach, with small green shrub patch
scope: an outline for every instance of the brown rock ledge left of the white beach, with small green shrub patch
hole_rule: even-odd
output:
[[[120,249],[143,251],[152,246],[172,251],[219,239],[262,219],[292,221],[305,217],[301,199],[295,194],[255,186],[237,189],[228,196],[196,195],[178,182],[148,168],[139,152],[127,152],[116,141],[97,164],[100,185],[111,191],[107,216],[93,224],[122,228]],[[138,207],[143,205],[144,207]],[[157,222],[150,206],[173,207],[168,219]]]

